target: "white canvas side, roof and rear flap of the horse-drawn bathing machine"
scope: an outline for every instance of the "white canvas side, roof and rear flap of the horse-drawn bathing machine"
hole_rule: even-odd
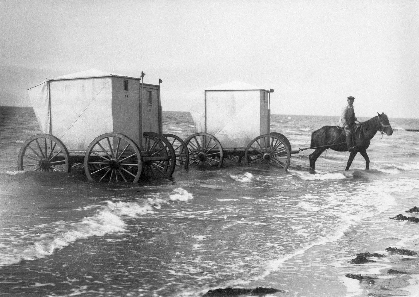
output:
[[[197,132],[212,134],[223,148],[246,147],[261,135],[261,90],[233,81],[190,93],[190,112]]]

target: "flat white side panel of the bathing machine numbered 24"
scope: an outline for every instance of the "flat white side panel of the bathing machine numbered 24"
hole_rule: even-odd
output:
[[[51,134],[69,151],[113,132],[111,77],[50,81]]]

